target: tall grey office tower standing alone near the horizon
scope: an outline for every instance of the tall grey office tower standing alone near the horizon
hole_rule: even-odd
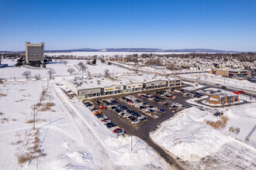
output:
[[[26,63],[30,62],[41,62],[44,59],[44,42],[40,44],[32,44],[26,42]]]

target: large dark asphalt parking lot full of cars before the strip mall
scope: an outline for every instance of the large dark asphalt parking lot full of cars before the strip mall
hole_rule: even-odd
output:
[[[102,112],[107,122],[111,121],[116,125],[109,128],[110,131],[116,127],[122,128],[127,134],[145,139],[149,138],[150,131],[156,130],[158,124],[173,117],[179,110],[191,107],[185,100],[188,97],[184,97],[181,92],[161,89],[85,102],[91,102]]]

